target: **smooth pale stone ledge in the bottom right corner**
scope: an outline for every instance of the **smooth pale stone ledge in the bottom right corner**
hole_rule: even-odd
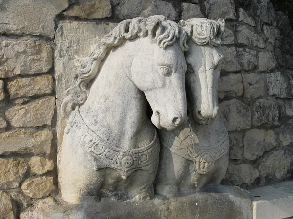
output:
[[[293,182],[282,182],[249,190],[253,219],[293,217]]]

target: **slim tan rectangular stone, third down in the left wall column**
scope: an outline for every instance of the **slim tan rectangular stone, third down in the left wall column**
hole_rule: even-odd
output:
[[[50,94],[53,92],[53,77],[43,75],[31,78],[17,78],[8,82],[10,99],[24,96]]]

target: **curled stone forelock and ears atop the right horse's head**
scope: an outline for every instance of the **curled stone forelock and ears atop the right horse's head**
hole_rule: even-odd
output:
[[[187,21],[180,21],[179,25],[188,34],[188,39],[200,46],[219,46],[221,37],[225,31],[225,21],[223,18],[209,20],[206,18],[193,18]]]

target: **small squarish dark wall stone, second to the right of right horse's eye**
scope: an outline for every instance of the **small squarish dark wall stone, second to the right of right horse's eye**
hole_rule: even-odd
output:
[[[247,48],[237,48],[237,60],[243,70],[254,69],[257,65],[256,51]]]

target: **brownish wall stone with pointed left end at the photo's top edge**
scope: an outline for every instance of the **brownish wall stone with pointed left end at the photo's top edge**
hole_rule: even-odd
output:
[[[81,19],[98,19],[111,17],[110,0],[79,0],[79,5],[63,12],[64,15],[77,16]]]

